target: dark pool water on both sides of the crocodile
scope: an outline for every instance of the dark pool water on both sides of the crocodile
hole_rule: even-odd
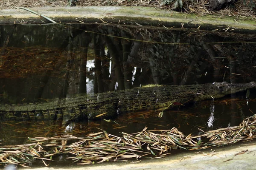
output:
[[[256,35],[109,25],[0,26],[0,105],[42,102],[76,94],[256,80]],[[246,95],[247,92],[247,95]],[[106,130],[134,133],[178,127],[184,134],[238,125],[256,113],[256,90],[222,99],[120,115],[110,122],[1,121],[2,144],[27,137],[84,136]],[[58,159],[63,161],[60,156]]]

